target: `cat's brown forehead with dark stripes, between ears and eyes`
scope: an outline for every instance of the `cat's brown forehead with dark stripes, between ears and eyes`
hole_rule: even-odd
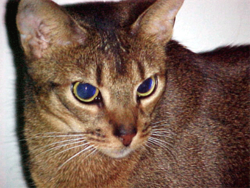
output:
[[[72,81],[128,86],[165,71],[164,49],[125,31],[99,31],[84,45],[70,48],[58,52],[56,59],[67,70],[63,74],[76,79]]]

